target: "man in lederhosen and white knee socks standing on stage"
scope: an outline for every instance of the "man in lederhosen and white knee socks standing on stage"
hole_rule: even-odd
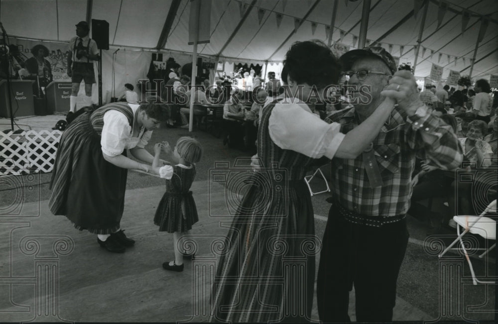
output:
[[[88,22],[78,22],[76,37],[71,38],[67,49],[67,75],[72,82],[69,111],[72,112],[76,112],[76,98],[82,80],[85,81],[85,106],[92,106],[92,85],[95,83],[93,62],[98,61],[100,56],[97,43],[88,36],[89,32]]]

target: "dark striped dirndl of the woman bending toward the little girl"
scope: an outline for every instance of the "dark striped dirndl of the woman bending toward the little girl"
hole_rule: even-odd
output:
[[[49,207],[52,214],[66,216],[79,230],[110,234],[120,228],[127,170],[104,159],[101,136],[90,114],[78,116],[62,134]]]

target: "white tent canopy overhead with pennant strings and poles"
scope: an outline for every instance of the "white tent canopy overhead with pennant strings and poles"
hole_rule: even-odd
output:
[[[358,46],[363,1],[338,1],[332,40],[353,48]],[[333,2],[212,0],[210,43],[199,44],[198,52],[201,56],[232,62],[281,62],[294,41],[327,42],[326,26],[331,23]],[[413,47],[417,44],[423,11],[414,16],[415,2],[371,1],[367,39],[390,49],[393,56],[400,56],[400,63],[413,64],[415,59]],[[191,53],[193,48],[188,45],[189,0],[1,0],[0,3],[0,20],[13,37],[67,42],[75,35],[74,25],[78,21],[100,19],[109,22],[110,44],[115,48],[185,53]],[[446,5],[445,10],[439,9],[440,3]],[[470,19],[462,35],[464,9],[470,12]],[[489,26],[479,43],[472,77],[498,74],[497,10],[496,0],[428,0],[415,75],[429,76],[432,63],[444,67],[443,79],[449,70],[469,74],[483,19],[489,20]],[[442,12],[444,17],[437,28],[438,15]],[[277,16],[281,17],[279,26]]]

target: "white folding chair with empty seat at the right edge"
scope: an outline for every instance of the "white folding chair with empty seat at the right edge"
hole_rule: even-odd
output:
[[[481,235],[482,237],[486,239],[492,239],[496,241],[497,238],[497,231],[496,231],[496,221],[492,218],[485,217],[486,213],[491,212],[495,213],[497,212],[497,201],[494,200],[491,202],[491,204],[488,205],[486,210],[480,215],[480,216],[453,216],[453,220],[457,222],[457,238],[441,253],[439,254],[439,257],[442,257],[446,252],[450,250],[450,248],[455,245],[458,241],[460,241],[460,245],[462,247],[462,250],[464,251],[465,258],[467,259],[467,262],[469,263],[470,267],[470,272],[472,274],[472,280],[474,282],[474,285],[477,285],[477,283],[480,284],[495,284],[494,281],[481,281],[476,278],[476,274],[474,273],[474,268],[472,267],[472,262],[470,261],[470,257],[467,253],[467,250],[465,249],[464,242],[462,240],[462,236],[465,235],[467,232],[471,232],[473,234]],[[464,227],[465,230],[460,233],[460,226]],[[485,256],[489,251],[494,249],[496,247],[496,242],[493,244],[491,247],[488,249],[485,249],[484,253],[479,255],[479,258],[482,258]]]

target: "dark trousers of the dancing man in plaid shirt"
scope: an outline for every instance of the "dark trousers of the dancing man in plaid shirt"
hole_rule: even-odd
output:
[[[357,321],[391,322],[407,243],[406,218],[381,227],[360,225],[342,218],[332,206],[318,268],[320,321],[351,322],[349,292],[354,284]]]

